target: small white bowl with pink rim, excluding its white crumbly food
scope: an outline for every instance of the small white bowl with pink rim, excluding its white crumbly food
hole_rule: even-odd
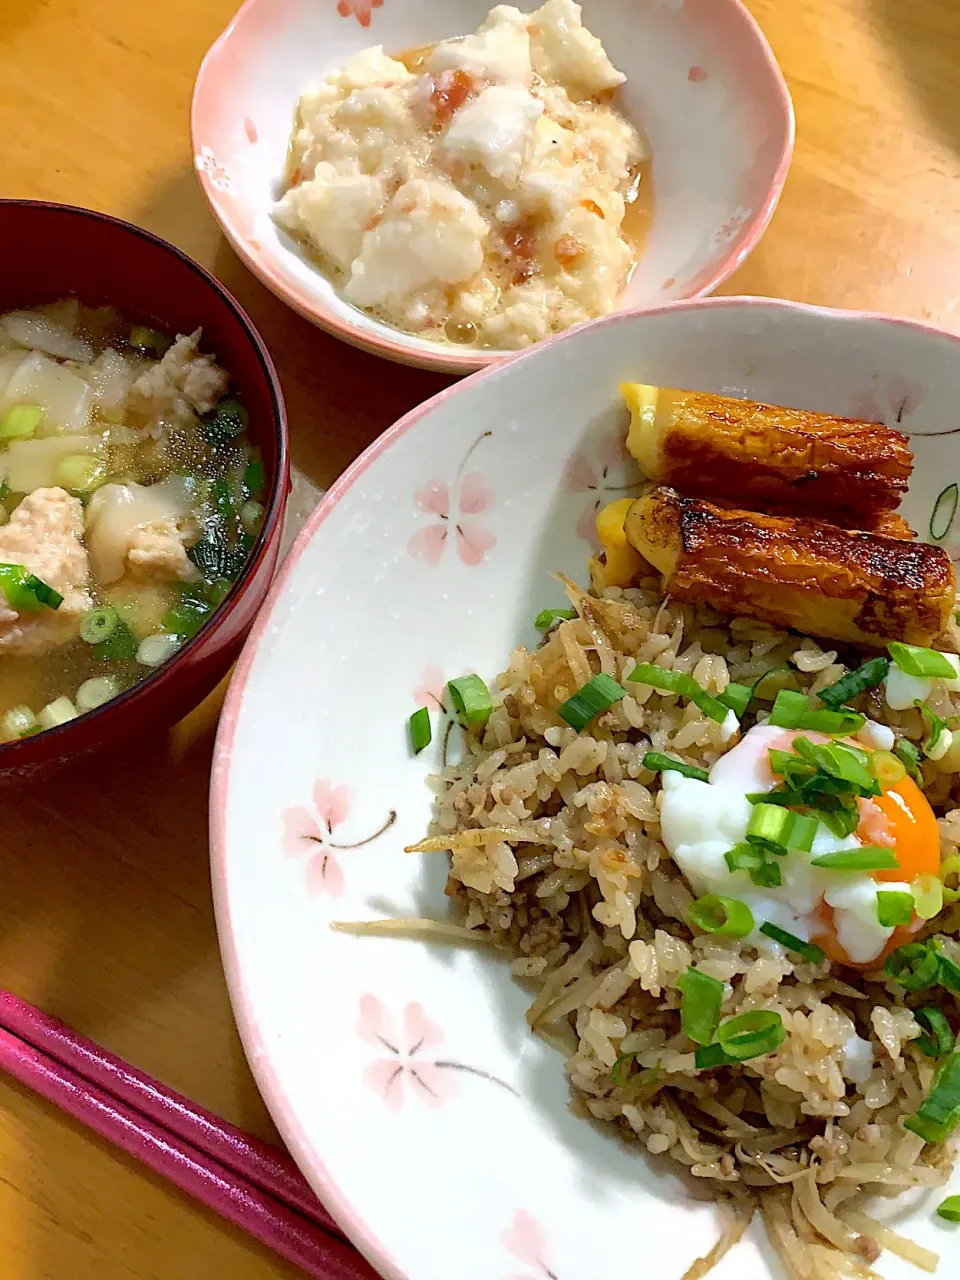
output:
[[[339,297],[270,219],[300,95],[370,45],[388,52],[474,31],[492,0],[247,0],[193,93],[200,183],[268,288],[339,338],[403,364],[471,372],[502,352],[410,337]],[[535,0],[520,8],[532,10]],[[794,148],[783,77],[741,0],[585,0],[626,74],[621,105],[653,147],[654,219],[623,310],[709,293],[754,248]]]

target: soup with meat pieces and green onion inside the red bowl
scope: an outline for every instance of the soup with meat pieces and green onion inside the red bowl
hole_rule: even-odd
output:
[[[0,740],[136,685],[241,573],[264,467],[201,344],[77,300],[0,316]]]

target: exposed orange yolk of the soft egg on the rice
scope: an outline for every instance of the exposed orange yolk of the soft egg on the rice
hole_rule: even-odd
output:
[[[937,819],[927,797],[913,778],[902,778],[882,795],[861,799],[858,803],[860,806],[858,840],[863,841],[864,845],[896,849],[900,863],[892,870],[870,872],[873,879],[911,883],[918,876],[936,876],[940,872]],[[881,955],[876,960],[858,966],[837,941],[832,908],[820,902],[817,916],[818,929],[813,934],[813,941],[827,952],[831,960],[864,969],[882,964],[892,951],[909,942],[923,924],[922,920],[916,919],[911,924],[895,929]]]

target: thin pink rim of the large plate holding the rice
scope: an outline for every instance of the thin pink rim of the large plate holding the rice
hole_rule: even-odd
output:
[[[916,333],[925,333],[937,338],[947,338],[950,342],[960,346],[959,334],[947,333],[945,329],[937,329],[936,325],[928,325],[918,320],[908,320],[900,316],[890,316],[870,311],[842,311],[831,307],[817,307],[804,302],[786,302],[781,298],[724,297],[700,300],[691,298],[678,302],[667,302],[659,307],[641,308],[637,311],[620,311],[614,315],[605,316],[602,320],[593,320],[589,325],[581,325],[579,329],[571,329],[564,334],[559,334],[557,338],[549,339],[547,343],[539,343],[536,347],[520,352],[513,357],[513,360],[531,360],[543,347],[570,342],[584,329],[593,329],[603,325],[627,324],[637,319],[637,316],[666,315],[678,311],[698,311],[704,307],[709,307],[710,310],[731,307],[764,307],[773,311],[792,311],[801,315],[822,316],[828,320],[856,320],[867,324],[891,324],[913,329]],[[471,381],[486,378],[494,371],[494,369],[483,370],[477,372]],[[266,1053],[252,1004],[244,987],[241,961],[234,945],[233,929],[230,927],[229,886],[227,878],[227,803],[230,790],[229,774],[233,741],[237,733],[237,724],[239,721],[246,685],[250,678],[250,672],[253,666],[260,641],[271,626],[274,609],[287,589],[287,582],[293,573],[297,562],[306,550],[307,545],[316,536],[317,530],[324,524],[326,517],[348,493],[348,490],[353,488],[367,467],[375,462],[381,453],[385,453],[396,440],[415,428],[422,417],[433,412],[438,404],[443,403],[443,401],[448,397],[456,396],[461,385],[462,384],[448,387],[445,390],[439,392],[429,401],[425,401],[415,410],[411,410],[410,413],[394,422],[393,426],[388,428],[383,435],[378,436],[378,439],[360,454],[356,462],[353,462],[343,472],[339,480],[337,480],[332,488],[328,489],[321,502],[311,512],[306,525],[291,547],[280,572],[270,588],[270,594],[257,614],[253,628],[250,632],[239,660],[237,662],[233,678],[230,680],[230,686],[227,691],[220,717],[220,726],[216,733],[210,786],[210,860],[214,906],[220,940],[220,956],[223,959],[224,973],[227,975],[227,986],[230,992],[233,1012],[237,1019],[237,1027],[239,1028],[241,1039],[243,1041],[250,1068],[270,1110],[270,1115],[273,1116],[276,1128],[280,1130],[283,1140],[293,1155],[305,1178],[310,1181],[316,1194],[330,1210],[353,1244],[372,1263],[372,1266],[375,1266],[378,1271],[387,1277],[387,1280],[408,1280],[408,1277],[397,1267],[397,1263],[390,1258],[383,1244],[380,1244],[380,1242],[372,1235],[357,1211],[340,1192],[324,1162],[319,1158],[306,1134],[306,1130],[293,1112],[293,1108],[283,1092],[279,1076],[274,1070],[273,1062]]]

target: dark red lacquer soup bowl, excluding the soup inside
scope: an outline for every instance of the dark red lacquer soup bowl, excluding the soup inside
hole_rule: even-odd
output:
[[[118,218],[32,200],[0,200],[0,312],[73,294],[175,333],[202,326],[204,349],[229,371],[250,411],[250,434],[268,477],[264,527],[220,608],[174,658],[113,701],[0,745],[0,774],[22,774],[165,728],[214,689],[239,653],[276,568],[291,480],[287,415],[270,355],[236,298],[192,259]]]

